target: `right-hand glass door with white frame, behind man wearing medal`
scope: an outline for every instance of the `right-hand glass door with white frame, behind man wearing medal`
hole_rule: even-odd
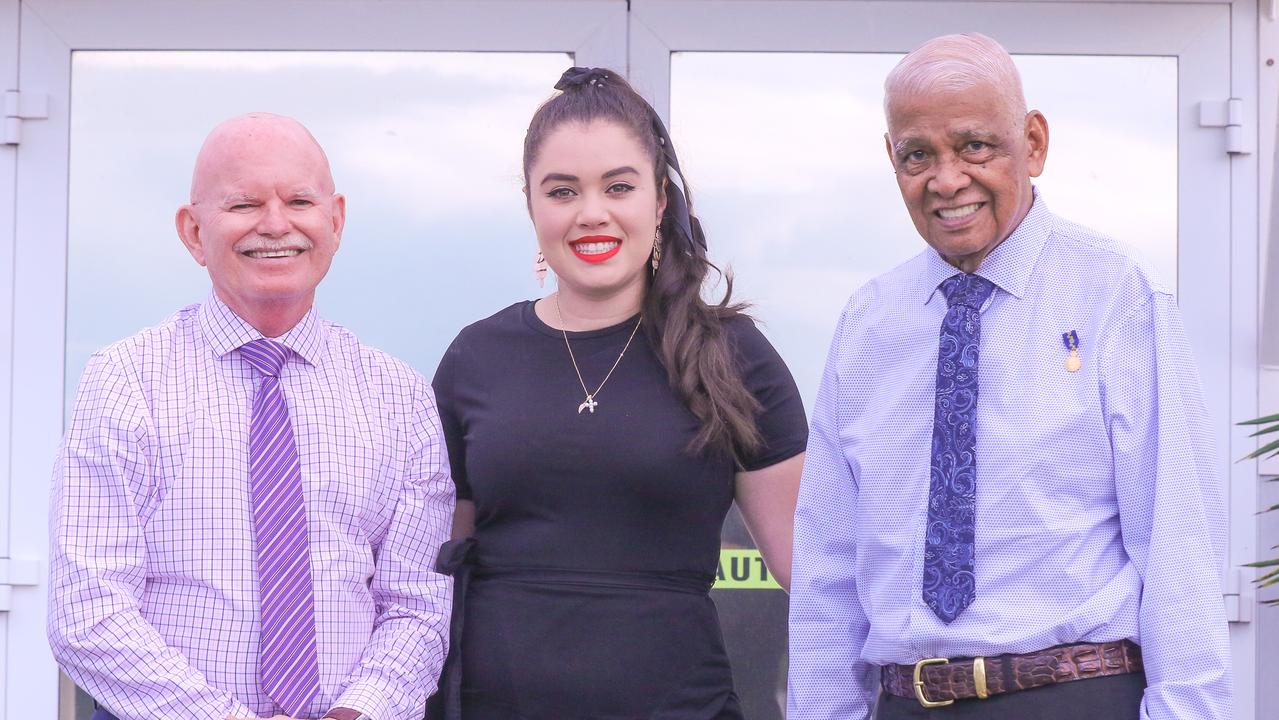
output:
[[[1241,379],[1221,322],[1232,157],[1198,123],[1200,101],[1230,96],[1229,6],[636,0],[632,14],[631,73],[668,114],[711,256],[733,269],[806,407],[848,295],[925,247],[884,150],[884,78],[925,40],[977,31],[1013,52],[1048,118],[1036,185],[1049,207],[1134,246],[1178,289],[1218,468],[1239,474],[1229,421],[1251,416],[1230,405]],[[1255,237],[1237,242],[1255,252]],[[725,559],[743,537],[730,524]],[[747,716],[781,717],[785,636],[771,628],[784,628],[784,593],[715,593]]]

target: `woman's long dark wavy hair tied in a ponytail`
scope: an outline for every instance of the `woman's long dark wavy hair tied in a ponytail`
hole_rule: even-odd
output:
[[[666,194],[666,210],[659,225],[661,260],[645,293],[643,316],[648,321],[645,333],[657,348],[671,389],[701,421],[688,449],[732,455],[741,464],[743,457],[762,444],[756,423],[760,403],[742,382],[724,330],[724,321],[742,315],[744,306],[730,302],[732,274],[721,274],[725,290],[719,302],[707,304],[702,299],[706,275],[719,269],[706,258],[706,235],[691,212],[692,197],[666,127],[652,106],[613,70],[572,68],[555,90],[561,92],[542,104],[528,123],[524,180],[528,182],[542,141],[564,123],[616,123],[629,129],[652,157],[657,188]]]

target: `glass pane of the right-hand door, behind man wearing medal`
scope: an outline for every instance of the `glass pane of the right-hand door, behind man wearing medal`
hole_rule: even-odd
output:
[[[884,146],[883,83],[900,55],[677,52],[671,134],[711,257],[778,347],[811,409],[848,295],[925,244]],[[1021,56],[1049,121],[1036,180],[1059,215],[1177,279],[1177,60]],[[1086,271],[1087,269],[1081,269]],[[749,544],[734,515],[725,546]],[[714,591],[747,717],[783,716],[787,599]]]

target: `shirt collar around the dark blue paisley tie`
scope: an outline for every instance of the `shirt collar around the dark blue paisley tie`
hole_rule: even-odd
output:
[[[981,261],[981,267],[977,269],[977,275],[1017,298],[1026,294],[1031,272],[1039,263],[1044,243],[1048,242],[1048,237],[1053,231],[1053,214],[1049,212],[1044,198],[1040,197],[1039,188],[1033,188],[1033,193],[1035,197],[1026,217],[1022,217],[1008,239],[990,251],[990,254]],[[938,293],[938,286],[946,278],[957,275],[959,269],[943,260],[932,248],[929,248],[925,254],[927,256],[927,270],[925,285],[921,289],[923,290],[923,303],[927,304]]]

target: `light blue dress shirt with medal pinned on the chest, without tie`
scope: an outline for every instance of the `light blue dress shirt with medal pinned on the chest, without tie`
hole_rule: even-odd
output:
[[[1228,720],[1225,512],[1181,313],[1122,246],[1037,193],[978,269],[996,289],[981,320],[977,597],[950,625],[921,600],[938,285],[955,272],[926,249],[857,290],[835,330],[796,514],[788,717],[868,717],[879,665],[1129,638],[1142,719]]]

